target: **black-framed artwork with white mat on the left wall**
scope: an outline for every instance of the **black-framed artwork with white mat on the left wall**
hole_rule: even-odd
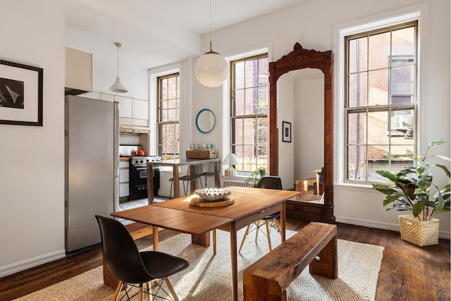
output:
[[[0,60],[0,124],[42,126],[42,68]]]

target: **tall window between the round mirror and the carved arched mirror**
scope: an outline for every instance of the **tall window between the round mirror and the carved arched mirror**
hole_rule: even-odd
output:
[[[230,149],[237,171],[268,166],[268,54],[230,62]]]

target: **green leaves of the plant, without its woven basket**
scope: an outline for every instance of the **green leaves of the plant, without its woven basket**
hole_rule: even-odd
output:
[[[373,183],[373,189],[386,195],[383,199],[383,206],[392,204],[392,207],[388,208],[387,211],[412,211],[412,214],[420,221],[428,221],[433,214],[450,211],[450,180],[443,188],[438,188],[433,183],[433,174],[428,172],[430,167],[437,166],[450,178],[450,171],[445,165],[428,163],[428,159],[431,157],[451,161],[446,156],[428,154],[433,147],[443,145],[445,142],[445,140],[434,140],[429,143],[426,154],[414,158],[416,167],[406,166],[397,173],[376,171],[376,173],[392,182],[390,184]],[[400,158],[409,156],[393,154],[386,157]],[[431,186],[437,189],[437,192],[433,195],[430,195]]]

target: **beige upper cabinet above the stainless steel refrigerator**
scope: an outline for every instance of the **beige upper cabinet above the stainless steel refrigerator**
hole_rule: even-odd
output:
[[[92,91],[92,54],[66,47],[65,94]]]

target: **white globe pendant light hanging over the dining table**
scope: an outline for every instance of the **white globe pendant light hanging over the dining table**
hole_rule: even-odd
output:
[[[196,62],[196,77],[206,87],[218,87],[227,79],[228,66],[221,54],[211,50],[211,0],[210,0],[210,51]]]

